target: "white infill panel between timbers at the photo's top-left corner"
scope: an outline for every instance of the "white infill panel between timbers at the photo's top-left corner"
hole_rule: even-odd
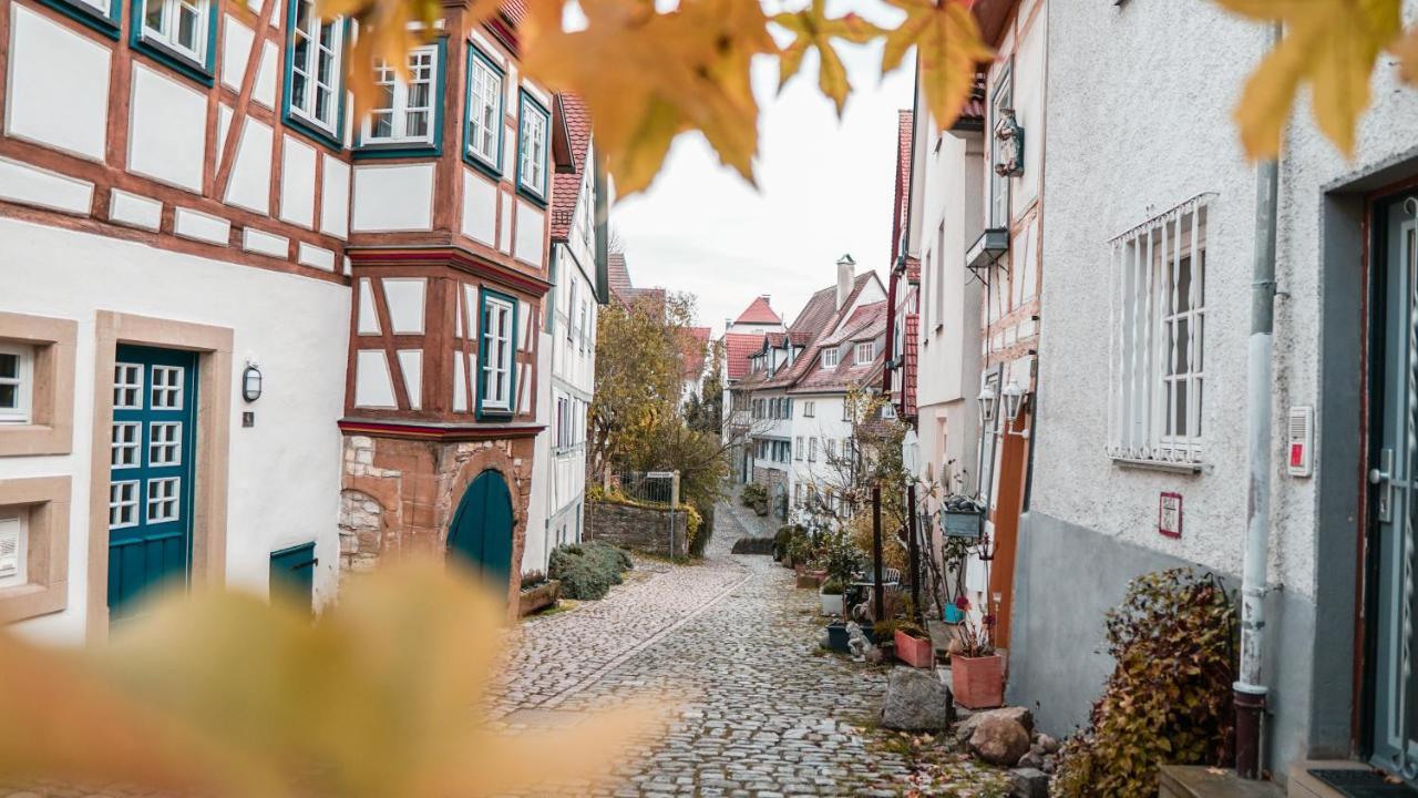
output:
[[[109,48],[20,4],[10,7],[9,45],[6,133],[104,160]]]

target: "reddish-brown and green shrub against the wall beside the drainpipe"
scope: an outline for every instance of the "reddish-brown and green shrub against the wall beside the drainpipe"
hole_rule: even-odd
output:
[[[1161,764],[1235,755],[1235,612],[1211,574],[1139,576],[1107,613],[1115,662],[1089,726],[1064,745],[1051,795],[1151,798]]]

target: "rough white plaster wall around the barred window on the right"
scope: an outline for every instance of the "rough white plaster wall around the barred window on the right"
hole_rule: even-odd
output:
[[[1242,156],[1231,114],[1265,51],[1266,31],[1204,3],[1059,9],[1049,20],[1048,290],[1032,508],[1236,574],[1246,503],[1255,169]],[[1418,18],[1418,0],[1405,0],[1404,11],[1407,20]],[[1314,131],[1303,97],[1292,118],[1280,183],[1278,278],[1288,295],[1276,304],[1276,432],[1285,408],[1317,403],[1322,186],[1418,148],[1418,94],[1400,91],[1383,58],[1373,97],[1350,163]],[[1207,233],[1205,469],[1198,476],[1120,469],[1103,453],[1106,243],[1202,192],[1217,193]],[[1313,596],[1314,483],[1285,476],[1282,437],[1275,442],[1271,579]],[[1324,467],[1323,456],[1317,467]],[[1177,541],[1156,531],[1163,490],[1184,497]]]

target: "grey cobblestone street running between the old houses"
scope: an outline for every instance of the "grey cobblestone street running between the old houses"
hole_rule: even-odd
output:
[[[581,794],[893,795],[905,763],[868,753],[861,733],[885,677],[818,653],[815,594],[795,591],[791,571],[729,554],[757,523],[720,504],[703,562],[638,564],[605,601],[522,625],[495,714],[513,728],[563,724],[647,690],[685,696],[618,784]]]

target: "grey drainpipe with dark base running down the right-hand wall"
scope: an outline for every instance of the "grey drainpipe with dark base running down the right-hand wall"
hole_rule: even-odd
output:
[[[1271,28],[1266,50],[1280,41]],[[1265,660],[1266,564],[1271,547],[1271,399],[1275,386],[1275,236],[1280,168],[1278,159],[1256,166],[1255,260],[1251,267],[1251,341],[1246,368],[1246,497],[1245,561],[1241,575],[1241,673],[1234,684],[1236,707],[1236,775],[1261,778],[1261,741],[1269,687]]]

